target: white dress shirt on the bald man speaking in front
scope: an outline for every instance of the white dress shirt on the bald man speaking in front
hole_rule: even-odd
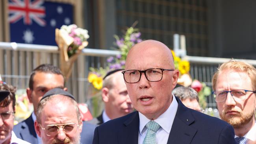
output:
[[[158,129],[158,131],[156,132],[157,144],[167,144],[177,109],[178,109],[178,102],[173,95],[173,101],[171,102],[169,108],[163,114],[161,114],[156,120],[154,120],[161,126],[160,129]],[[150,120],[146,116],[139,113],[138,144],[143,144],[143,140],[147,134],[147,127],[145,126],[149,121]]]

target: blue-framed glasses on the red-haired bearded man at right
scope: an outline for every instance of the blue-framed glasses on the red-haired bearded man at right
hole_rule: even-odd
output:
[[[230,92],[231,96],[235,101],[244,101],[246,99],[246,92],[256,93],[256,91],[252,91],[252,90],[238,89],[238,90],[231,90],[231,91],[216,90],[216,91],[213,91],[212,94],[216,102],[225,102],[228,92]]]

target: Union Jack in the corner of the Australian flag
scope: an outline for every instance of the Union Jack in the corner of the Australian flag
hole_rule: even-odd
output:
[[[45,7],[42,6],[43,0],[11,0],[9,3],[9,17],[10,23],[15,23],[23,18],[24,24],[31,25],[34,20],[40,26],[45,26]]]

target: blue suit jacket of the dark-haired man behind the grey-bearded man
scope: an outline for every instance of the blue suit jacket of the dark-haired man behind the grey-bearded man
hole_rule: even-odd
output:
[[[82,144],[92,144],[95,127],[95,125],[83,121],[83,128],[81,133]],[[30,115],[30,117],[26,120],[15,125],[13,127],[13,131],[18,138],[30,142],[31,144],[38,144],[32,115]]]

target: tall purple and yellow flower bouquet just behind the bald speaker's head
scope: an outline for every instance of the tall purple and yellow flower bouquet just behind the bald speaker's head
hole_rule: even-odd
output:
[[[98,113],[102,112],[102,98],[99,90],[102,89],[103,78],[109,71],[122,69],[125,65],[126,56],[132,46],[138,42],[141,42],[140,39],[141,33],[138,29],[130,27],[127,29],[126,33],[122,37],[114,35],[116,41],[114,44],[121,54],[116,55],[115,57],[107,58],[107,66],[105,68],[90,68],[88,81],[93,85],[94,89],[92,90],[93,97],[91,98],[91,105],[93,105],[92,114],[97,116]]]

